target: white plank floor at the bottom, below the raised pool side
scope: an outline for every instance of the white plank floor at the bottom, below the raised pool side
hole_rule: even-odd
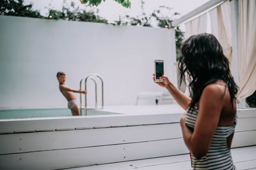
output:
[[[256,145],[232,148],[232,157],[236,169],[256,169]],[[74,170],[170,170],[191,169],[189,154],[160,157],[156,159],[142,159],[114,164],[77,167]]]

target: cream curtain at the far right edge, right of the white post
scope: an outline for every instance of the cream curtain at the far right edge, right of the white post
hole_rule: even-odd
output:
[[[256,1],[239,0],[238,29],[239,93],[250,96],[256,90]]]

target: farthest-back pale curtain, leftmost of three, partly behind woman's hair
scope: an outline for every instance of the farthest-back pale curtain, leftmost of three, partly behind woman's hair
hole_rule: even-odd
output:
[[[196,35],[196,34],[201,34],[206,32],[207,28],[207,13],[200,15],[200,17],[197,17],[189,22],[185,23],[185,38],[189,38],[190,36]],[[186,75],[186,90],[185,94],[189,96],[189,82],[188,82],[188,76]]]

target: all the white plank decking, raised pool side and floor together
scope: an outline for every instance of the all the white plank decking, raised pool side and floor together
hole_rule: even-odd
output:
[[[0,169],[190,168],[179,125],[184,111],[179,107],[115,106],[104,110],[123,114],[0,120]],[[237,167],[256,168],[250,166],[256,164],[256,110],[237,112],[234,160]],[[250,147],[239,148],[243,146]]]

